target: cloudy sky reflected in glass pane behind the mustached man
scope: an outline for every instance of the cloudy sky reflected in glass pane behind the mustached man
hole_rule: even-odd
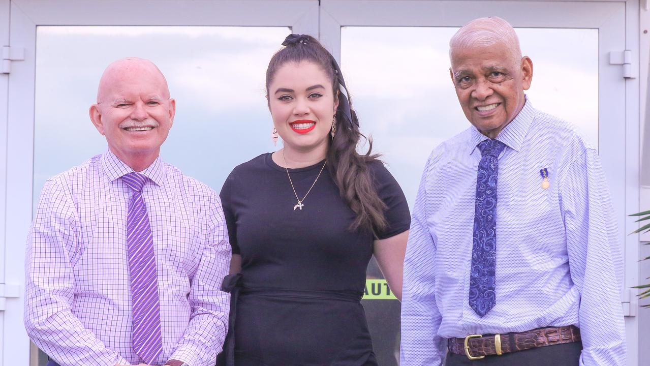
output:
[[[273,148],[266,65],[289,33],[287,27],[38,27],[34,202],[45,179],[105,150],[88,108],[105,67],[129,56],[157,64],[176,99],[162,158],[218,192],[235,165]]]

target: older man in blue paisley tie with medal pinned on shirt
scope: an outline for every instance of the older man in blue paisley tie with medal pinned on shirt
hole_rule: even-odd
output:
[[[623,266],[597,151],[532,107],[532,62],[506,21],[462,27],[450,59],[472,126],[424,168],[400,364],[625,365]]]

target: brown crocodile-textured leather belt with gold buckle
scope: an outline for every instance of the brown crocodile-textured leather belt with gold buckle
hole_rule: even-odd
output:
[[[469,359],[528,350],[530,348],[580,342],[580,328],[558,326],[537,328],[521,333],[471,334],[465,338],[450,338],[447,346],[450,352],[465,355]]]

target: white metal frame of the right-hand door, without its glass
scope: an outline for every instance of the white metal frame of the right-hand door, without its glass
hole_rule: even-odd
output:
[[[461,27],[474,18],[499,16],[513,27],[599,29],[599,154],[612,192],[618,238],[624,251],[625,281],[621,293],[628,315],[628,365],[638,365],[642,339],[635,317],[638,301],[634,295],[638,291],[630,287],[640,283],[640,250],[638,235],[627,235],[638,224],[627,215],[639,211],[639,78],[623,79],[621,66],[610,65],[609,51],[632,50],[632,73],[639,75],[639,2],[322,0],[320,14],[320,40],[337,60],[341,59],[344,26]]]

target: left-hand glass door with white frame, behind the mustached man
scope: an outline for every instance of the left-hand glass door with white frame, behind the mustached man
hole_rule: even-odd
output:
[[[12,194],[6,207],[12,215],[6,220],[6,242],[14,244],[6,246],[0,276],[23,284],[25,235],[45,179],[103,153],[105,138],[91,124],[88,107],[113,60],[150,59],[166,75],[177,114],[161,154],[188,176],[218,191],[235,165],[272,149],[266,64],[292,31],[318,33],[318,1],[151,5],[11,2],[10,42],[24,49],[25,60],[13,62],[8,87],[7,189]],[[1,21],[1,10],[0,24],[8,24]],[[12,352],[3,354],[0,365],[44,365],[47,359],[37,356],[34,346],[30,362],[22,302],[12,305],[3,332],[12,340]]]

